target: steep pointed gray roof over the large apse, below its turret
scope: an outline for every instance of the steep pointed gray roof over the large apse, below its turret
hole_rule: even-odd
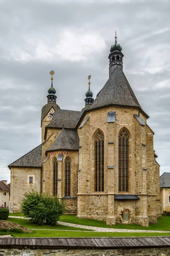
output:
[[[89,110],[105,105],[125,105],[141,108],[119,65],[115,67],[112,75],[109,77],[102,90],[98,93]]]

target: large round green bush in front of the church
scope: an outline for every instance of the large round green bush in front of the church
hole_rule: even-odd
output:
[[[26,192],[21,202],[21,210],[26,218],[38,225],[55,225],[64,212],[64,204],[57,196],[45,193]]]

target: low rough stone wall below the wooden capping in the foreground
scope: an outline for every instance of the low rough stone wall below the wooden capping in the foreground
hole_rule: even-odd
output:
[[[170,248],[139,249],[0,249],[0,256],[170,256]]]

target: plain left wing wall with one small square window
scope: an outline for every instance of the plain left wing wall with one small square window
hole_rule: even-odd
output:
[[[33,183],[29,183],[29,176],[33,177]],[[11,207],[13,212],[20,212],[20,202],[25,192],[32,190],[40,192],[41,169],[11,167]]]

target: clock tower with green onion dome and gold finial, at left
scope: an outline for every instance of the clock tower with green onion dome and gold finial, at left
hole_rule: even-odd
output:
[[[41,127],[42,127],[42,143],[44,142],[44,133],[45,133],[45,126],[47,126],[55,113],[55,111],[59,108],[59,105],[56,103],[57,96],[56,90],[53,87],[53,76],[54,70],[50,71],[51,75],[51,87],[48,89],[47,95],[47,104],[43,106],[41,111]]]

